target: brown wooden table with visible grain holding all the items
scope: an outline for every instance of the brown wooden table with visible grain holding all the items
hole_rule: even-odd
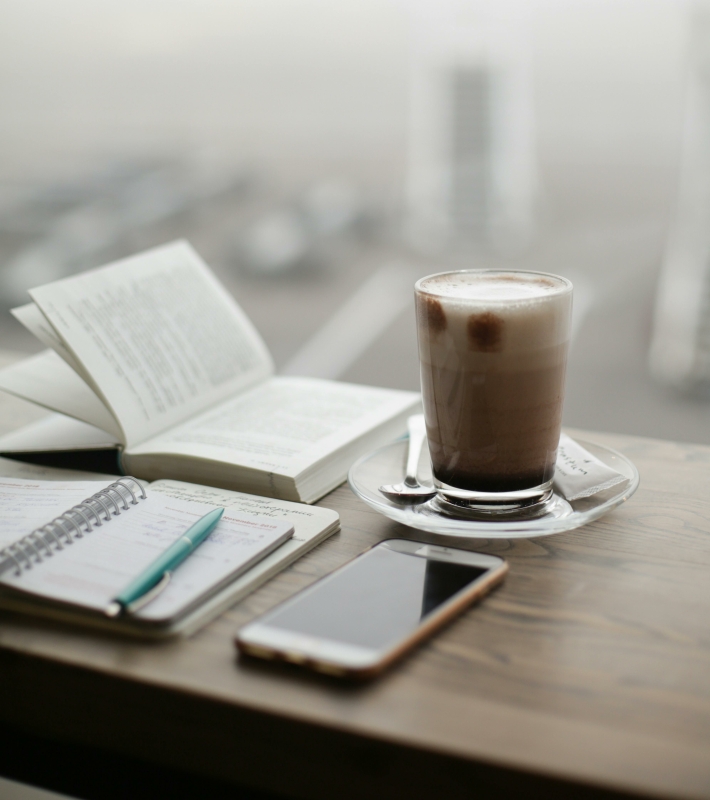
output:
[[[569,533],[470,542],[508,559],[503,586],[376,682],[232,644],[373,542],[426,539],[343,486],[322,501],[342,532],[190,640],[0,616],[0,724],[286,796],[710,797],[710,448],[585,437],[636,463],[636,495]]]

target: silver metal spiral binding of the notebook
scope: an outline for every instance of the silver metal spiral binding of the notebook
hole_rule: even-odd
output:
[[[140,490],[139,497],[136,497],[136,486]],[[146,496],[143,485],[135,478],[128,475],[119,478],[56,519],[0,550],[0,562],[10,561],[15,566],[14,574],[22,575],[23,571],[32,569],[33,564],[39,564],[58,550],[63,550],[66,545],[73,544],[74,539],[81,539],[85,533],[100,528],[102,514],[103,522],[109,522],[112,516],[117,517],[121,511],[128,511],[129,503],[138,505],[138,501],[145,500]]]

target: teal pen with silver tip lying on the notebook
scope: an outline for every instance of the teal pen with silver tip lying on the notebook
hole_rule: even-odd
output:
[[[153,599],[170,580],[172,571],[202,544],[212,533],[224,514],[223,508],[216,508],[205,514],[190,526],[185,533],[170,547],[151,562],[141,574],[134,578],[128,586],[106,608],[109,617],[117,617],[122,611],[137,611]],[[156,591],[152,591],[156,590]],[[141,600],[140,604],[137,603]]]

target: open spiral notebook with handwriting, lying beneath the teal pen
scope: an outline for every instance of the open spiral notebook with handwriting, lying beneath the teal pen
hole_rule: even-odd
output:
[[[60,503],[70,507],[59,513]],[[294,530],[287,519],[227,509],[164,591],[135,614],[109,620],[111,599],[215,507],[128,477],[108,485],[0,479],[0,607],[146,635],[173,632]]]

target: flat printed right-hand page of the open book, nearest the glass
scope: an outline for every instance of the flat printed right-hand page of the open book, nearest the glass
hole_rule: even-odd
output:
[[[275,377],[130,455],[176,453],[296,477],[418,401],[414,392]]]

